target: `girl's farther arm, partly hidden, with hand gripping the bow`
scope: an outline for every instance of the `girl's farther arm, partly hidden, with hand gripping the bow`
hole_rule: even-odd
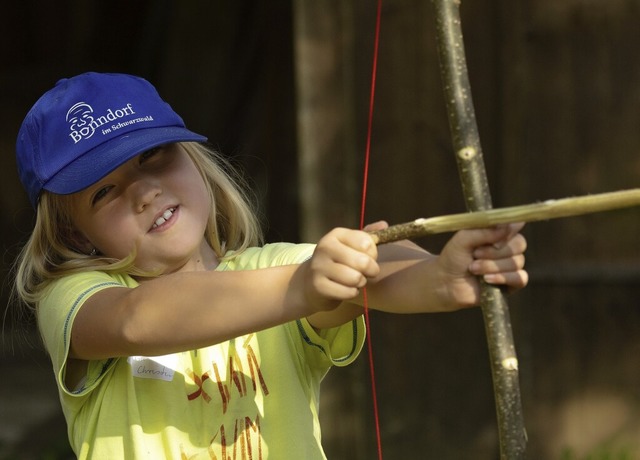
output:
[[[386,226],[373,224],[367,230]],[[526,286],[526,240],[522,224],[464,230],[453,235],[440,255],[408,242],[378,247],[380,273],[367,282],[369,308],[393,313],[454,311],[480,302],[483,277],[490,284],[514,291]],[[363,295],[335,310],[309,317],[316,328],[333,327],[363,311]]]

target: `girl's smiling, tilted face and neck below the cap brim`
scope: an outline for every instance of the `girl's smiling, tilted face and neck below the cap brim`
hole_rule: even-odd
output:
[[[213,268],[204,239],[211,201],[202,176],[179,144],[145,152],[72,195],[72,220],[87,247],[171,273]]]

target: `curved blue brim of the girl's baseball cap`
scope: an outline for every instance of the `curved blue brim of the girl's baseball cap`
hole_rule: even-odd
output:
[[[149,149],[173,142],[206,140],[206,137],[178,126],[130,131],[98,145],[65,166],[44,184],[43,189],[60,195],[76,193]]]

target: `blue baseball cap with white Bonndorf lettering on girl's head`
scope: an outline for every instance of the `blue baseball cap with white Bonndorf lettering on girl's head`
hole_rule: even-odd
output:
[[[36,207],[42,190],[79,192],[149,149],[206,140],[143,78],[89,72],[58,81],[31,108],[18,132],[18,173]]]

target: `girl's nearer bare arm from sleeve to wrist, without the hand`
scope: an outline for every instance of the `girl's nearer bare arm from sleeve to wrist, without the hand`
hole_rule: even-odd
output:
[[[305,316],[301,267],[175,273],[93,294],[71,332],[71,357],[93,360],[197,349]]]

